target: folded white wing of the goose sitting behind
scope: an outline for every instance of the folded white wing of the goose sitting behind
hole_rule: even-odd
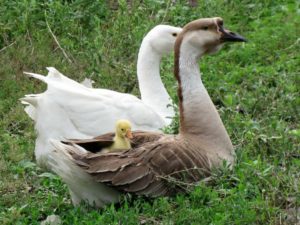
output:
[[[44,121],[51,122],[49,120],[57,120],[57,117],[64,115],[65,118],[60,119],[60,129],[64,127],[64,120],[71,122],[78,132],[89,136],[114,130],[115,121],[118,119],[128,119],[135,130],[157,130],[165,125],[164,118],[133,95],[106,89],[87,88],[65,77],[55,68],[48,69],[47,77],[27,73],[47,83],[47,90],[39,94],[38,98],[37,95],[28,95],[22,101],[34,106],[35,113],[30,114],[35,115],[40,114],[39,111],[45,108],[48,111],[52,108],[59,108],[63,113],[58,115],[55,113],[47,116],[47,119],[43,115],[42,118]],[[35,104],[32,104],[33,101]],[[47,102],[47,104],[42,105],[41,102]]]

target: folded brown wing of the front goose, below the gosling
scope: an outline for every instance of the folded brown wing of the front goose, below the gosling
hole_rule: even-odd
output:
[[[137,132],[133,142],[136,147],[124,152],[69,152],[97,182],[139,195],[169,195],[209,174],[209,160],[203,151],[191,150],[193,147],[179,138]]]

